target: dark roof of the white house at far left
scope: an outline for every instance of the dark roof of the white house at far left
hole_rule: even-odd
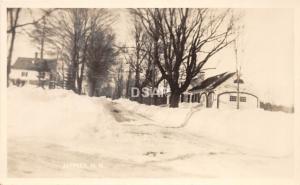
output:
[[[42,61],[41,59],[19,57],[13,64],[12,69],[50,72],[56,71],[56,65],[56,59],[44,59]]]

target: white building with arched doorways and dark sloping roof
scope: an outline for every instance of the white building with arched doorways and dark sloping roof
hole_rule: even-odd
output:
[[[239,107],[257,108],[259,99],[254,95],[250,85],[239,80],[237,93],[236,73],[222,73],[194,83],[182,94],[181,102],[199,103],[203,107],[236,108],[239,96]]]

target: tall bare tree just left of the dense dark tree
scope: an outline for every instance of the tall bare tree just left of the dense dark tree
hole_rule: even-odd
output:
[[[108,31],[113,16],[105,9],[61,9],[51,25],[55,34],[53,44],[64,48],[68,64],[67,88],[82,93],[82,83],[87,66],[92,60],[93,48],[100,31]],[[97,35],[97,36],[95,36]],[[59,44],[57,44],[59,43]]]

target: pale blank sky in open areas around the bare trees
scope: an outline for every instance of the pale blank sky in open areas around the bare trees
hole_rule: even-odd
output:
[[[114,26],[119,43],[130,39],[129,16],[125,10]],[[242,22],[244,31],[239,40],[238,60],[242,66],[242,78],[265,101],[291,105],[294,102],[293,69],[293,11],[291,9],[245,9]],[[16,39],[13,60],[17,57],[34,57],[37,49],[26,35]],[[206,67],[206,76],[225,71],[235,71],[235,55],[232,46],[216,55]]]

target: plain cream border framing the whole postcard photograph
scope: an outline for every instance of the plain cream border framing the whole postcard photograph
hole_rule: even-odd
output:
[[[288,0],[6,0],[1,2],[1,53],[0,53],[0,82],[1,82],[1,114],[0,114],[0,183],[5,185],[192,185],[192,184],[272,184],[288,185],[300,184],[300,112],[299,88],[300,88],[300,8],[299,2]],[[295,66],[295,176],[293,179],[88,179],[88,178],[51,178],[51,179],[31,179],[31,178],[7,178],[6,174],[6,8],[144,8],[144,7],[207,7],[207,8],[291,8],[294,10],[294,66]]]

